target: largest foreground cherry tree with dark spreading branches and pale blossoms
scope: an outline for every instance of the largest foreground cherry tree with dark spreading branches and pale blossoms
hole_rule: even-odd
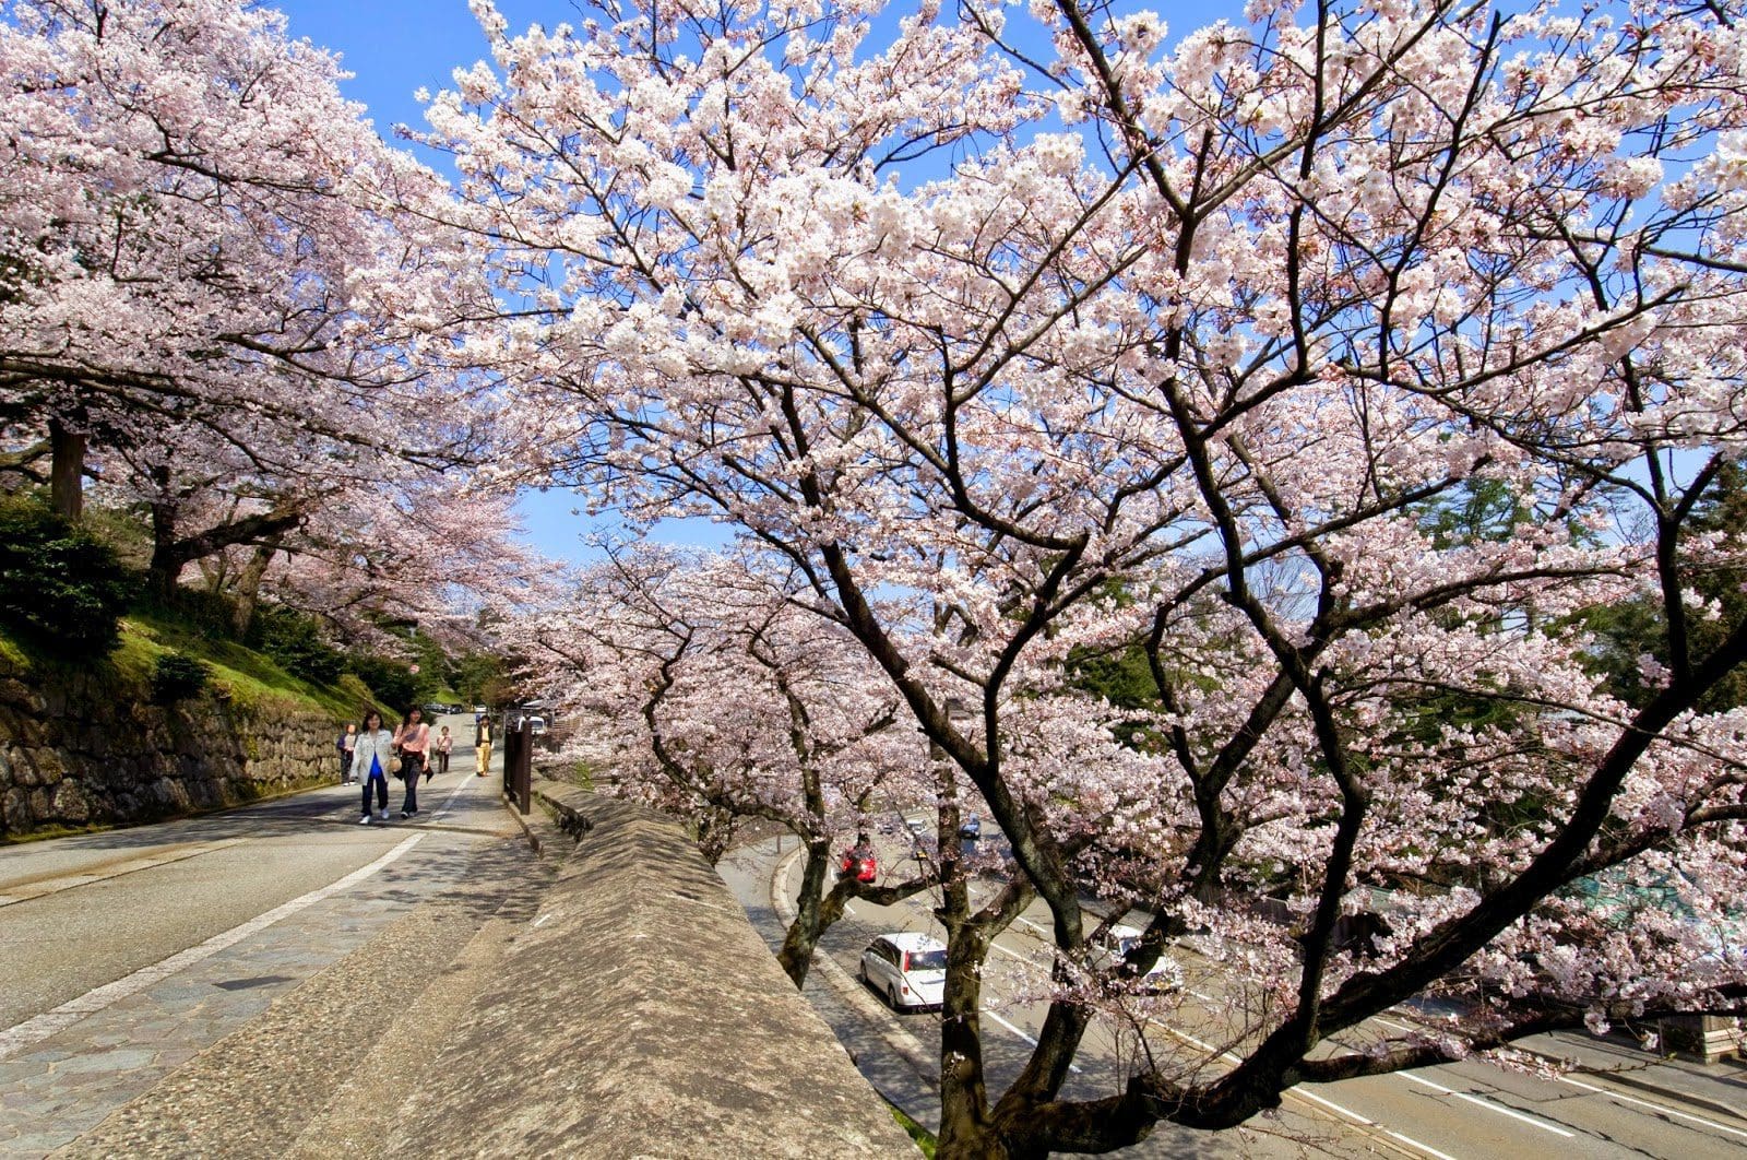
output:
[[[1693,522],[1747,419],[1730,5],[1258,0],[1169,51],[1080,0],[886,40],[854,2],[475,7],[494,59],[430,140],[549,477],[779,559],[1012,842],[992,900],[943,884],[940,1155],[1740,1010],[1747,720],[1700,704],[1747,624],[1691,632],[1747,549]],[[1644,594],[1626,704],[1583,613]],[[1136,704],[1085,692],[1108,657]],[[1129,968],[1198,935],[1216,1052],[1064,1092],[1115,991],[1087,886],[1150,905]],[[1032,898],[1052,1005],[992,1094]],[[1368,1022],[1426,992],[1462,1013]]]

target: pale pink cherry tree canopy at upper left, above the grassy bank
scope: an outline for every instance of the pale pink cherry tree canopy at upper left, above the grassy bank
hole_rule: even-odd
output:
[[[0,21],[0,432],[77,514],[87,452],[327,475],[472,447],[442,321],[445,185],[239,0],[26,0]],[[430,337],[435,335],[435,337]],[[405,414],[452,435],[409,440]],[[119,470],[114,456],[107,456]]]

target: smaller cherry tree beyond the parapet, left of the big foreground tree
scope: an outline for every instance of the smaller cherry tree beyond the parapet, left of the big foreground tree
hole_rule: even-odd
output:
[[[692,821],[715,863],[746,821],[805,849],[777,961],[795,985],[853,898],[891,905],[936,884],[837,875],[882,807],[933,793],[926,748],[891,685],[795,590],[734,557],[610,547],[556,608],[505,632],[613,791]],[[608,772],[610,770],[610,772]]]

